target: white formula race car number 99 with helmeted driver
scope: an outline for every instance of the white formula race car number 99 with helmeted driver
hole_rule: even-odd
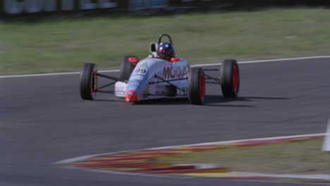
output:
[[[162,42],[164,37],[169,42]],[[136,56],[126,56],[119,77],[99,73],[94,63],[85,63],[80,71],[80,97],[94,100],[97,93],[109,93],[102,89],[114,85],[114,92],[110,93],[126,102],[188,98],[191,104],[200,105],[204,103],[205,83],[221,85],[226,98],[238,96],[240,73],[236,60],[224,60],[220,69],[192,68],[184,58],[174,54],[169,35],[161,35],[158,43],[150,43],[149,51],[151,54],[141,61]],[[207,71],[219,71],[219,77],[205,74]],[[99,77],[111,82],[98,86]]]

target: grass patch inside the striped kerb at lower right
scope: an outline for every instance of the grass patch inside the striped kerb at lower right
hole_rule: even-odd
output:
[[[228,147],[157,159],[166,163],[214,163],[230,171],[278,174],[329,174],[330,154],[322,149],[323,138],[300,142]]]

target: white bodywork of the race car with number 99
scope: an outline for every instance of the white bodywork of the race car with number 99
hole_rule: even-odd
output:
[[[187,76],[189,70],[190,66],[184,58],[172,63],[154,58],[152,52],[152,55],[135,66],[127,83],[116,82],[115,95],[116,97],[125,97],[126,92],[134,91],[138,94],[138,100],[188,97]],[[170,80],[169,82],[175,86],[170,85],[169,82],[164,82],[164,80]],[[176,94],[169,95],[169,89],[171,91],[176,89]]]

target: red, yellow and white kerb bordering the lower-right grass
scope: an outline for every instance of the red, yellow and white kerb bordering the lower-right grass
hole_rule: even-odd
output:
[[[209,142],[172,147],[158,147],[108,154],[95,154],[67,159],[54,163],[67,168],[81,168],[103,173],[122,173],[140,175],[179,175],[209,178],[274,180],[286,182],[330,183],[330,175],[274,175],[266,173],[229,172],[228,168],[213,164],[171,164],[155,161],[158,156],[173,156],[196,151],[209,151],[226,147],[247,147],[269,143],[296,142],[324,137],[328,133],[267,137],[250,140]],[[329,139],[328,139],[329,140]],[[320,147],[320,150],[322,147]]]

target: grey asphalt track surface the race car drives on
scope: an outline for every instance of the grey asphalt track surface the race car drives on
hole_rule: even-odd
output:
[[[240,97],[224,99],[220,87],[210,85],[205,106],[187,100],[130,105],[108,94],[82,101],[79,75],[0,79],[0,185],[306,185],[97,173],[51,163],[132,149],[325,132],[329,62],[242,64]]]

